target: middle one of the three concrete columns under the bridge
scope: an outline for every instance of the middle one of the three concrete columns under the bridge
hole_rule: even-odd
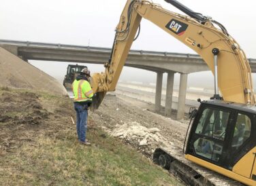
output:
[[[167,73],[167,85],[165,95],[165,115],[171,116],[172,113],[172,93],[174,92],[174,72]]]

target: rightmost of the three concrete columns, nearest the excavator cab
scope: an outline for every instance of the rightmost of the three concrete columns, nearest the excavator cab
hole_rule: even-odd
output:
[[[184,117],[186,93],[187,93],[187,73],[180,73],[180,88],[178,91],[177,119],[182,119]]]

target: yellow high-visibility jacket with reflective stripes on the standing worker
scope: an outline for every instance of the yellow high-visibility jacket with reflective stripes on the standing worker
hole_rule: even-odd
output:
[[[72,90],[74,93],[74,102],[92,101],[93,90],[88,81],[84,79],[75,80],[72,83]]]

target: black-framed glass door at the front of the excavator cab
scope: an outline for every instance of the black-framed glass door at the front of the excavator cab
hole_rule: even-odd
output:
[[[191,128],[187,153],[206,160],[212,164],[223,166],[229,131],[228,122],[233,115],[231,109],[220,107],[201,107],[199,117]]]

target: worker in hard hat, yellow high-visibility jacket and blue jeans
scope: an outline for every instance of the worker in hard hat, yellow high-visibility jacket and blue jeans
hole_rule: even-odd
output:
[[[76,130],[78,141],[83,145],[91,145],[86,140],[88,108],[91,106],[93,98],[93,90],[89,83],[90,77],[90,71],[86,67],[82,69],[80,75],[72,83],[74,108],[76,110]]]

